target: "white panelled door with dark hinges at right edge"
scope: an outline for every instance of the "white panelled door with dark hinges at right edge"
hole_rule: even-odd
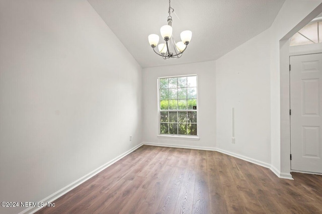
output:
[[[291,169],[322,173],[322,54],[290,57]]]

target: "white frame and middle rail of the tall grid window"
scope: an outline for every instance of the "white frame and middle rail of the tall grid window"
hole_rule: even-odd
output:
[[[160,109],[160,79],[165,79],[165,78],[178,78],[178,77],[189,77],[189,76],[195,76],[196,77],[196,100],[197,100],[197,109],[196,110],[161,110]],[[188,88],[188,87],[187,87]],[[158,114],[158,135],[157,137],[160,138],[175,138],[175,139],[187,139],[187,140],[199,140],[199,101],[198,101],[198,75],[197,74],[187,74],[187,75],[176,75],[176,76],[162,76],[162,77],[158,77],[157,78],[157,114]],[[178,97],[177,97],[178,100]],[[196,126],[197,126],[197,135],[180,135],[180,134],[161,134],[161,130],[160,130],[160,117],[161,117],[161,113],[160,112],[196,112],[197,113],[197,122],[196,122]],[[169,122],[168,122],[169,123]],[[177,122],[177,124],[179,124]]]

